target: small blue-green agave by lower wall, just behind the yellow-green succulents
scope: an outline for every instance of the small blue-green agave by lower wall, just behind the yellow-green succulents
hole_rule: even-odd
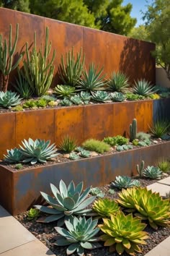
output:
[[[139,187],[140,182],[138,180],[133,180],[128,176],[116,176],[115,182],[112,182],[113,187],[118,189],[123,189],[127,187]]]

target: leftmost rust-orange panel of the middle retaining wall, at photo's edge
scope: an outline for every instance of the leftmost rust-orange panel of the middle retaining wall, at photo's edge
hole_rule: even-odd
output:
[[[7,149],[15,146],[15,113],[0,114],[0,159],[4,158]]]

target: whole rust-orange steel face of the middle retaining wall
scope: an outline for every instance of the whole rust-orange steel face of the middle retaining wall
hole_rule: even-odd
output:
[[[65,135],[78,143],[91,137],[103,140],[128,135],[134,118],[138,120],[138,131],[148,132],[153,119],[164,110],[167,116],[169,108],[170,98],[0,113],[0,159],[6,149],[18,147],[29,137],[56,143]]]

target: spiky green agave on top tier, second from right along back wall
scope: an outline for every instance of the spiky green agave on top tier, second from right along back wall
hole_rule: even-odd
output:
[[[113,72],[110,80],[107,84],[109,90],[116,92],[122,92],[127,89],[130,85],[128,82],[128,77],[122,72]]]

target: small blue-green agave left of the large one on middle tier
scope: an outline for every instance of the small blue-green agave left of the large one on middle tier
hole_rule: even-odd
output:
[[[18,163],[23,160],[23,154],[18,148],[7,150],[7,155],[4,155],[4,161],[8,163]]]

